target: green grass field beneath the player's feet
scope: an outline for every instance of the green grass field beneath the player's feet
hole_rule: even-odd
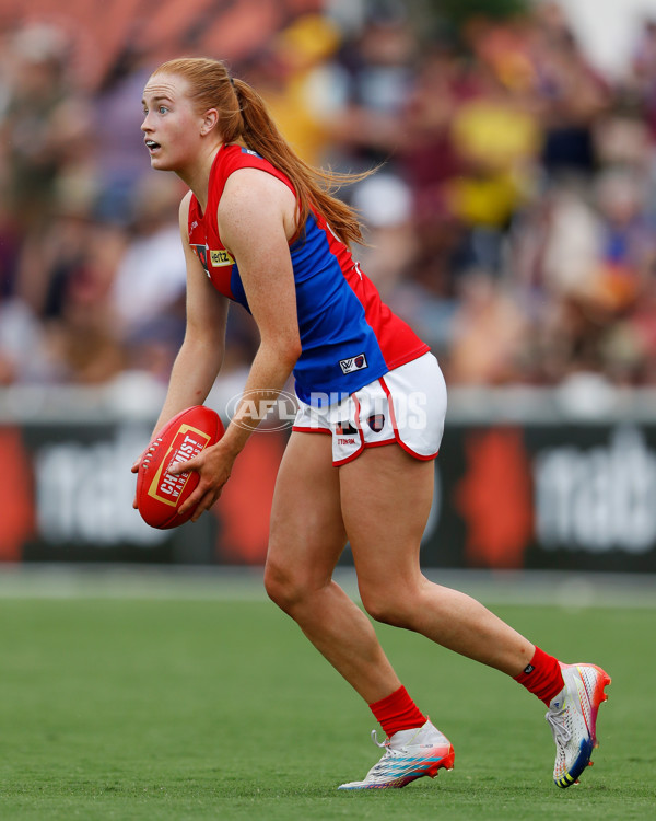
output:
[[[655,818],[656,609],[492,609],[613,677],[577,787],[551,780],[534,696],[408,633],[379,629],[456,767],[402,790],[338,793],[378,758],[373,719],[263,599],[0,599],[0,818]]]

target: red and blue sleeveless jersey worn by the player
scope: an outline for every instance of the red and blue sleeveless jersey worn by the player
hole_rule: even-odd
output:
[[[212,285],[249,311],[239,270],[216,224],[225,183],[244,167],[266,171],[295,195],[289,178],[255,151],[222,146],[210,173],[206,212],[192,195],[188,228],[189,242]],[[338,402],[430,350],[380,300],[348,245],[319,213],[309,215],[305,230],[290,244],[290,254],[302,345],[294,379],[303,402],[318,406]]]

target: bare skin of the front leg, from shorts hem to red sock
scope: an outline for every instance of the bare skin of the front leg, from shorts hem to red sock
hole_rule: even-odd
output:
[[[276,483],[265,586],[368,703],[400,686],[371,621],[332,580],[344,547],[331,437],[294,431]]]

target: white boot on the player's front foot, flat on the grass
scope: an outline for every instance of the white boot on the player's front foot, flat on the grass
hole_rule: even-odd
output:
[[[395,732],[383,743],[374,730],[372,739],[385,750],[383,758],[364,780],[342,784],[339,789],[398,789],[424,775],[434,778],[441,767],[454,768],[453,744],[430,721],[423,727]]]

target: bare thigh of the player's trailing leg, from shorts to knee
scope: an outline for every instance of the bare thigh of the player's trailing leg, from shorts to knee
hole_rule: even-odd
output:
[[[415,583],[435,481],[433,460],[397,444],[370,448],[340,467],[342,518],[361,588]]]

